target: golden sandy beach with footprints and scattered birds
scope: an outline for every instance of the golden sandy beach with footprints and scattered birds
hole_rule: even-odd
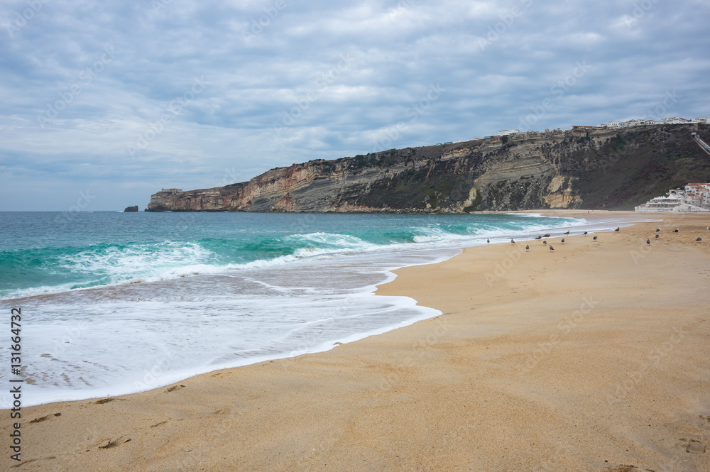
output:
[[[710,216],[642,216],[398,270],[442,315],[332,351],[23,408],[21,465],[3,411],[1,468],[710,471]]]

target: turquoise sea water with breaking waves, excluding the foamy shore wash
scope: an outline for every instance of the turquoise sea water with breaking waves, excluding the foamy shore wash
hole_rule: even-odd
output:
[[[561,223],[508,215],[4,213],[0,299]]]

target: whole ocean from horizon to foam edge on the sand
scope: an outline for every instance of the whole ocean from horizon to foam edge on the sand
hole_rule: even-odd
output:
[[[124,395],[439,314],[374,295],[396,268],[486,238],[615,225],[535,214],[4,212],[0,378],[11,376],[13,307],[23,406]]]

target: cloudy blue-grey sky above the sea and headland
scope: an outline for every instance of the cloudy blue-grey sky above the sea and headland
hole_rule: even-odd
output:
[[[3,1],[0,211],[142,211],[313,159],[709,117],[709,22],[706,0]]]

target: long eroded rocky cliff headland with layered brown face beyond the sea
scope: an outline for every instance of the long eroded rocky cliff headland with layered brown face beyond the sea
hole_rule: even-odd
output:
[[[710,159],[692,131],[710,138],[706,125],[557,131],[313,160],[226,187],[158,192],[148,211],[630,209],[708,181]]]

